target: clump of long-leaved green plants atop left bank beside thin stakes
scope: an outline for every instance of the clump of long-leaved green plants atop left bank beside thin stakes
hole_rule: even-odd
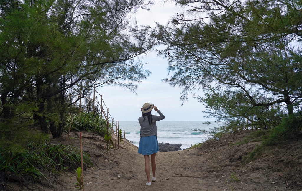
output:
[[[108,128],[111,129],[111,123]],[[72,129],[77,131],[85,129],[88,132],[94,132],[104,137],[107,134],[107,121],[92,112],[72,114]],[[108,131],[109,135],[110,133],[111,131]]]

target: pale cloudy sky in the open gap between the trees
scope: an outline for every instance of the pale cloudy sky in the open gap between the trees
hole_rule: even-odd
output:
[[[169,18],[177,10],[173,4],[155,1],[155,5],[150,11],[140,10],[137,14],[139,25],[150,25],[154,27],[154,22],[166,24]],[[144,103],[153,103],[165,115],[167,121],[203,121],[213,120],[204,118],[204,106],[193,97],[188,97],[188,102],[181,106],[182,101],[179,99],[182,90],[178,87],[171,87],[169,84],[162,82],[162,79],[168,75],[167,60],[156,56],[155,52],[149,53],[143,57],[143,63],[146,69],[152,72],[147,80],[142,81],[136,94],[125,91],[123,88],[101,87],[98,93],[103,95],[103,100],[109,108],[109,113],[114,121],[137,121],[141,116],[140,108]],[[202,95],[199,91],[197,95]],[[153,111],[152,114],[157,114]]]

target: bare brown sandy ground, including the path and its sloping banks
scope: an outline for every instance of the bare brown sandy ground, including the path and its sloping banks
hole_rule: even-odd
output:
[[[78,135],[75,133],[74,136]],[[89,133],[84,133],[83,136],[87,137],[83,140],[83,150],[92,155],[95,164],[93,168],[89,167],[84,171],[85,191],[283,191],[294,188],[291,186],[301,190],[300,183],[297,182],[302,178],[301,173],[293,174],[298,171],[284,166],[287,163],[293,164],[292,161],[297,161],[297,157],[301,156],[302,147],[298,147],[300,142],[284,148],[277,147],[275,151],[264,153],[258,160],[248,164],[241,164],[240,158],[257,143],[229,147],[226,140],[219,140],[199,149],[159,152],[156,155],[157,181],[152,182],[151,186],[146,186],[144,159],[137,153],[136,146],[125,142],[116,153],[111,151],[111,155],[106,155],[99,137]],[[244,138],[246,135],[241,136]],[[231,138],[228,142],[235,142],[236,137],[226,137]],[[72,144],[79,146],[76,142]],[[286,155],[286,152],[291,156],[282,158],[289,155]],[[297,161],[298,168],[295,169],[301,169],[301,158]],[[288,178],[289,176],[292,178]],[[75,177],[75,173],[65,172],[60,177],[50,178],[52,186],[44,183],[20,188],[18,183],[15,183],[11,184],[13,188],[9,187],[7,191],[74,191],[77,190],[74,185]],[[288,181],[289,179],[292,181]]]

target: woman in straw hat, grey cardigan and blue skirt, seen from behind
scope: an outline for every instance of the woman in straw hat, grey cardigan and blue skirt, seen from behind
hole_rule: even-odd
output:
[[[151,115],[153,108],[157,111],[159,116]],[[155,156],[159,151],[156,121],[165,119],[165,116],[152,103],[143,104],[143,107],[140,110],[142,111],[142,116],[138,118],[138,121],[140,122],[140,144],[138,146],[138,153],[144,155],[145,171],[148,179],[146,185],[151,186],[149,155],[151,155],[151,168],[153,173],[152,181],[154,182],[156,181]]]

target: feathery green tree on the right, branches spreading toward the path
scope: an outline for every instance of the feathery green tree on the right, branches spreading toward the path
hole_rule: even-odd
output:
[[[182,88],[183,101],[203,88],[207,113],[226,120],[252,120],[255,107],[301,110],[300,1],[172,2],[185,11],[150,34],[166,46],[159,54],[171,77],[164,81]]]

